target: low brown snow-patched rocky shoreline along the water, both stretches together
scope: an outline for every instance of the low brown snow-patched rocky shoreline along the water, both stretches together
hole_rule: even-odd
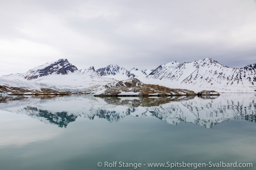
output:
[[[201,91],[195,93],[187,89],[174,89],[155,84],[143,84],[133,79],[134,82],[126,83],[126,86],[120,86],[120,83],[111,87],[108,85],[96,94],[90,94],[95,97],[167,97],[167,96],[219,96],[215,91]],[[58,92],[49,88],[39,90],[28,90],[21,87],[0,86],[1,95],[70,95],[84,94],[82,92]],[[85,93],[86,94],[86,93]]]

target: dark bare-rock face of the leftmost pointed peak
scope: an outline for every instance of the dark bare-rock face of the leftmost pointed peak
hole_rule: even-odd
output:
[[[42,76],[47,76],[49,74],[68,74],[77,71],[77,67],[70,64],[67,59],[59,59],[58,61],[53,61],[51,63],[46,63],[40,65],[34,69],[28,70],[24,78],[27,80],[35,79]]]

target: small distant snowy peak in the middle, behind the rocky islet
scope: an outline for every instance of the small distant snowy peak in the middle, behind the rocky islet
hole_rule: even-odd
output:
[[[116,80],[124,80],[135,77],[134,74],[129,73],[128,70],[116,64],[110,64],[104,68],[96,70],[96,72],[99,73],[101,76],[115,78]]]

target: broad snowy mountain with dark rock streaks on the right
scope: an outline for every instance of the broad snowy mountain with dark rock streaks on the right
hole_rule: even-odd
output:
[[[184,63],[173,61],[160,65],[146,78],[161,80],[161,84],[169,83],[169,86],[176,85],[192,90],[205,88],[218,89],[221,92],[239,92],[239,89],[248,87],[251,91],[256,89],[255,65],[247,65],[241,69],[229,68],[210,58]]]

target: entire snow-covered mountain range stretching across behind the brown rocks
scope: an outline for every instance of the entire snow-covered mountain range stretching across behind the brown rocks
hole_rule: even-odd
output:
[[[256,64],[229,68],[213,59],[205,58],[184,63],[173,61],[154,70],[133,68],[128,71],[119,65],[107,65],[98,70],[93,66],[78,70],[67,59],[59,59],[26,73],[4,75],[0,77],[0,85],[3,80],[6,83],[9,79],[59,91],[96,91],[105,88],[105,84],[128,78],[138,78],[143,83],[171,88],[186,88],[195,92],[255,92]]]

